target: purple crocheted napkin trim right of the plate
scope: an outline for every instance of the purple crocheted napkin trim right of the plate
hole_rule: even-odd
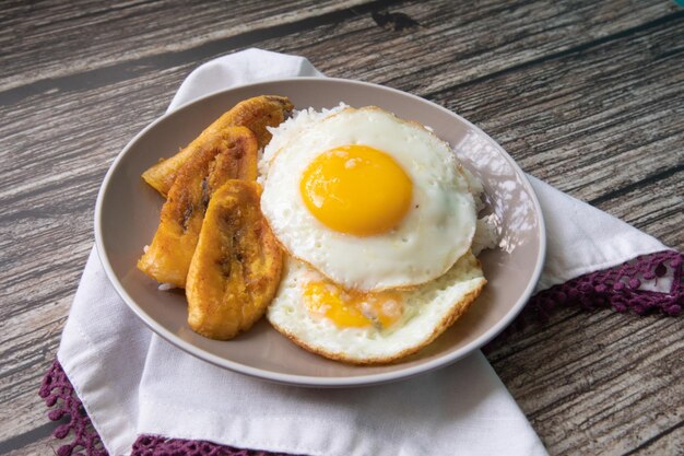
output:
[[[535,308],[542,319],[557,306],[613,307],[638,315],[676,316],[684,305],[683,264],[684,255],[674,250],[644,255],[541,291],[532,296],[528,306]],[[653,291],[665,281],[671,281],[669,289]]]

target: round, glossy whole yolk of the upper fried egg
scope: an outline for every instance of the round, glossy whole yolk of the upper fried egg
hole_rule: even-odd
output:
[[[411,206],[412,183],[387,153],[343,145],[318,155],[304,171],[299,191],[326,226],[370,236],[397,226]]]

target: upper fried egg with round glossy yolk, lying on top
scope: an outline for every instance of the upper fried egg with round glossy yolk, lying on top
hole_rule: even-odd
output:
[[[377,107],[274,133],[261,209],[284,249],[362,292],[443,276],[470,248],[475,202],[449,144]]]

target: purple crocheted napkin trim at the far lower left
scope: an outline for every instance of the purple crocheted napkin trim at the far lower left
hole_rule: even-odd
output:
[[[58,456],[108,456],[59,361],[55,360],[43,377],[38,394],[47,407],[54,407],[47,414],[50,420],[69,418],[68,423],[52,431],[52,435],[60,440],[72,435],[71,443],[57,449]]]

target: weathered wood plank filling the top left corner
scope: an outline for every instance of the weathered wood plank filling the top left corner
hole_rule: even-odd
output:
[[[78,8],[59,0],[3,2],[0,87],[192,49],[363,3],[367,0],[325,0],[316,4],[288,0],[258,5],[249,1],[89,0],[80,1]]]

